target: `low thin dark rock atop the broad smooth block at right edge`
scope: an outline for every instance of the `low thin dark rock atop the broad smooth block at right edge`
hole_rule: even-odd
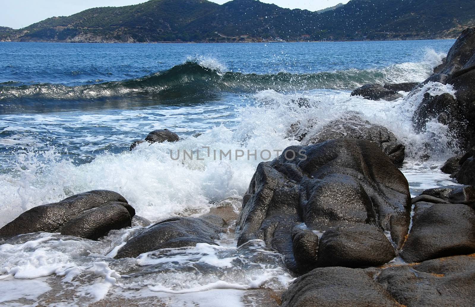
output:
[[[422,195],[437,197],[452,204],[475,205],[473,186],[439,186],[425,190]]]

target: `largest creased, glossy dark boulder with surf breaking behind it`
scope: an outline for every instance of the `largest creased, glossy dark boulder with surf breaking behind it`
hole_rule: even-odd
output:
[[[295,158],[289,150],[297,153]],[[238,244],[262,239],[299,272],[313,265],[299,263],[293,252],[292,234],[301,223],[320,232],[370,224],[390,232],[398,247],[409,227],[408,182],[368,140],[289,147],[274,161],[258,165],[245,199]]]

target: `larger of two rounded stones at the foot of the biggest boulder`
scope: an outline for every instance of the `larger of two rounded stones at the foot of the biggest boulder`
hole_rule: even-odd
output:
[[[394,257],[396,253],[386,235],[367,224],[327,230],[318,246],[319,267],[380,266]]]

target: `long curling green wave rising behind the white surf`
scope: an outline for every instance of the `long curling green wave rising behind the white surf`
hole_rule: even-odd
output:
[[[264,90],[295,92],[313,89],[352,90],[363,84],[385,82],[411,82],[425,79],[432,72],[440,55],[426,53],[419,63],[402,63],[382,69],[349,69],[312,74],[242,74],[224,71],[216,61],[190,58],[185,63],[137,79],[67,86],[64,84],[32,84],[14,86],[0,84],[1,102],[18,100],[82,101],[117,97],[175,99],[184,96],[199,96],[227,93],[255,93]]]

